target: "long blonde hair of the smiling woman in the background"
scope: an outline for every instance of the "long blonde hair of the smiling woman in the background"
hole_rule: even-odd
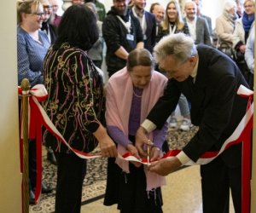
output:
[[[164,19],[164,21],[162,23],[163,30],[166,31],[166,30],[169,29],[169,17],[168,17],[167,10],[168,10],[168,7],[169,7],[169,5],[171,3],[173,3],[175,5],[175,8],[177,10],[177,19],[175,20],[175,24],[177,26],[177,30],[182,30],[183,26],[184,26],[184,22],[183,22],[183,17],[182,17],[182,14],[181,14],[180,5],[179,5],[179,3],[176,0],[171,0],[166,5],[166,15],[165,15],[165,19]]]

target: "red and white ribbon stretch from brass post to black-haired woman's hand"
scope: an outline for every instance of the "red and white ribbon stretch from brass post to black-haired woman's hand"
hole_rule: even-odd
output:
[[[67,141],[63,138],[61,133],[55,128],[55,125],[52,124],[49,117],[47,116],[44,108],[39,104],[38,101],[45,101],[48,97],[47,91],[44,87],[44,84],[35,85],[32,89],[27,92],[22,91],[20,87],[18,87],[19,95],[31,95],[29,97],[29,112],[28,112],[28,138],[36,139],[36,164],[37,164],[37,181],[36,181],[36,189],[35,189],[35,202],[38,203],[38,199],[41,194],[41,184],[42,184],[42,125],[49,130],[49,132],[55,135],[60,141],[66,144],[66,146],[73,151],[79,158],[99,158],[100,155],[92,155],[89,153],[82,153],[79,150],[73,149],[70,147]],[[21,111],[22,112],[22,111]],[[22,114],[21,114],[22,118]],[[20,118],[20,120],[22,120]],[[22,123],[21,123],[22,124]],[[23,152],[22,152],[22,144],[23,144],[23,135],[22,135],[22,125],[20,125],[20,170],[23,171]]]

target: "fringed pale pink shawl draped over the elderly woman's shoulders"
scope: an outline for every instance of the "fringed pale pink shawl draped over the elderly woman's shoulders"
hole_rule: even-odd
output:
[[[148,86],[143,89],[142,97],[142,112],[141,121],[143,121],[148,112],[154,107],[159,97],[163,95],[163,91],[166,87],[167,78],[160,74],[160,72],[153,71],[152,77]],[[119,130],[122,130],[128,137],[128,123],[131,110],[131,101],[133,95],[133,84],[129,72],[126,67],[113,74],[108,80],[107,84],[107,102],[106,102],[106,121],[108,125],[116,126]],[[148,134],[148,139],[153,141],[153,134]],[[125,147],[118,145],[119,154],[123,155],[127,153]],[[116,164],[129,173],[128,161],[121,158],[116,158]],[[148,172],[147,166],[144,166],[144,171],[147,176],[147,191],[154,187],[160,187],[166,184],[166,179],[163,176],[159,176],[155,173]]]

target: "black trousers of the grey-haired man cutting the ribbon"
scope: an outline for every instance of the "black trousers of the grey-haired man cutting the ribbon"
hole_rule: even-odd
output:
[[[230,190],[236,213],[241,213],[241,165],[230,167],[221,157],[201,165],[204,213],[229,213]]]

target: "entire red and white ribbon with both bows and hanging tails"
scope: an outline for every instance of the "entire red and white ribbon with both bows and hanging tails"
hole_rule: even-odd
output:
[[[19,94],[21,95],[23,91],[18,88]],[[43,84],[38,84],[35,87],[33,87],[31,90],[28,91],[28,94],[31,95],[31,98],[29,98],[29,138],[30,139],[36,139],[37,143],[37,170],[38,170],[38,176],[37,176],[37,186],[35,191],[35,199],[36,202],[38,201],[38,198],[41,193],[41,181],[42,181],[42,135],[41,135],[41,129],[42,125],[49,130],[49,132],[55,137],[62,141],[73,153],[75,153],[79,158],[99,158],[101,155],[93,155],[89,153],[83,153],[79,150],[74,149],[73,147],[70,147],[67,141],[63,138],[61,133],[55,128],[55,125],[51,122],[49,117],[47,116],[46,112],[44,111],[44,108],[39,104],[38,101],[44,101],[46,100],[48,94],[46,89],[44,88]],[[252,100],[253,97],[253,91],[245,88],[241,85],[241,87],[237,91],[238,95],[241,95],[243,97],[247,97],[249,99],[248,101],[248,107],[247,112],[245,116],[241,119],[240,124],[236,127],[236,130],[230,137],[224,142],[223,146],[218,152],[207,152],[204,153],[201,158],[199,158],[196,162],[189,161],[189,165],[192,164],[207,164],[211,162],[214,158],[217,158],[220,153],[223,153],[225,149],[230,147],[233,144],[239,143],[243,141],[243,154],[242,154],[242,212],[249,212],[247,211],[247,206],[249,206],[248,202],[250,202],[249,199],[249,192],[250,192],[250,170],[251,170],[251,130],[253,127],[253,104],[250,105],[249,103]],[[21,127],[22,129],[22,127]],[[22,130],[20,131],[22,133]],[[22,135],[20,139],[20,144],[22,144]],[[20,145],[21,147],[21,145]],[[181,152],[181,150],[172,150],[163,158],[170,158],[173,156],[176,156],[177,153]],[[22,152],[20,149],[20,156],[22,156]],[[137,161],[142,164],[148,164],[147,159],[139,160],[132,156],[131,153],[125,153],[123,156],[119,155],[119,158],[124,158],[128,161]],[[22,158],[20,158],[21,160]],[[22,164],[22,160],[20,161],[20,164]],[[21,169],[22,171],[22,169]],[[247,206],[246,206],[247,205]]]

